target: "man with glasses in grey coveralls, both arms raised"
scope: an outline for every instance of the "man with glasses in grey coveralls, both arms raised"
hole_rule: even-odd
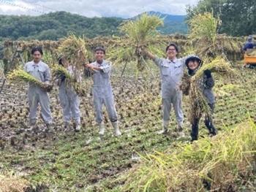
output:
[[[176,121],[178,123],[178,131],[181,137],[184,137],[182,131],[184,115],[182,112],[182,93],[179,89],[179,84],[181,82],[181,77],[183,76],[184,66],[186,58],[176,58],[178,54],[178,47],[174,43],[166,47],[167,58],[158,58],[156,55],[148,52],[146,48],[143,47],[143,53],[145,53],[148,58],[151,58],[155,64],[159,67],[161,73],[161,92],[162,92],[162,131],[159,134],[166,134],[170,122],[170,110],[173,106]]]

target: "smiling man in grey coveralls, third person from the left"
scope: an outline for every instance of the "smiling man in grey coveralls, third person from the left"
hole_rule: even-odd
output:
[[[93,96],[94,96],[94,110],[96,114],[96,122],[99,126],[99,135],[104,135],[105,126],[103,123],[102,107],[105,107],[108,112],[108,116],[114,128],[114,134],[116,137],[121,135],[121,131],[118,128],[118,118],[116,114],[116,107],[113,98],[113,91],[110,84],[110,64],[105,61],[105,48],[97,47],[95,49],[96,61],[91,64],[87,64],[86,67],[93,71],[92,78]]]

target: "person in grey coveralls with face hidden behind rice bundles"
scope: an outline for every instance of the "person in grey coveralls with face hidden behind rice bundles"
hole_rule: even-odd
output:
[[[81,82],[81,76],[73,69],[72,65],[64,57],[59,58],[59,65],[64,66],[65,69],[75,78],[77,82]],[[69,131],[70,120],[73,118],[75,120],[75,131],[80,131],[80,100],[78,93],[66,83],[66,77],[61,75],[58,80],[59,85],[59,100],[63,110],[64,116],[64,130]]]

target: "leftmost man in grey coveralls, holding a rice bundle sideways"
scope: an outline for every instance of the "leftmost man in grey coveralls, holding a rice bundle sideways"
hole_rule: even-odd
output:
[[[33,61],[25,64],[24,70],[36,77],[37,80],[44,82],[45,84],[50,83],[50,68],[47,64],[41,61],[42,49],[40,47],[34,47],[31,50],[33,55]],[[34,83],[29,83],[29,120],[31,128],[37,123],[37,107],[38,104],[41,106],[41,115],[48,129],[51,128],[53,118],[50,114],[50,99],[48,93]]]

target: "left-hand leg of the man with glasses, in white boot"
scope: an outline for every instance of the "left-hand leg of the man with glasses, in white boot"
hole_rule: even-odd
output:
[[[162,131],[159,134],[166,134],[170,123],[171,99],[162,98]]]

